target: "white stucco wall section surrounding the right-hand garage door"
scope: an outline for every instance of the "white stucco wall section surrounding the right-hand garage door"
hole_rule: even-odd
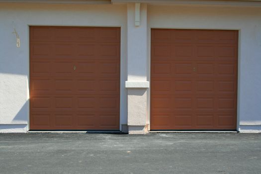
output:
[[[148,5],[147,15],[149,40],[150,28],[239,30],[239,129],[261,130],[261,7]],[[150,41],[147,59],[150,76]]]

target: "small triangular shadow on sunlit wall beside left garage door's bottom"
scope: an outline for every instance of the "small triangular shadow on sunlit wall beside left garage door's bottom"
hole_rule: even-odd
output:
[[[21,109],[14,116],[14,118],[12,119],[12,123],[27,124],[28,113],[29,113],[28,111],[29,111],[29,99],[23,104]]]

